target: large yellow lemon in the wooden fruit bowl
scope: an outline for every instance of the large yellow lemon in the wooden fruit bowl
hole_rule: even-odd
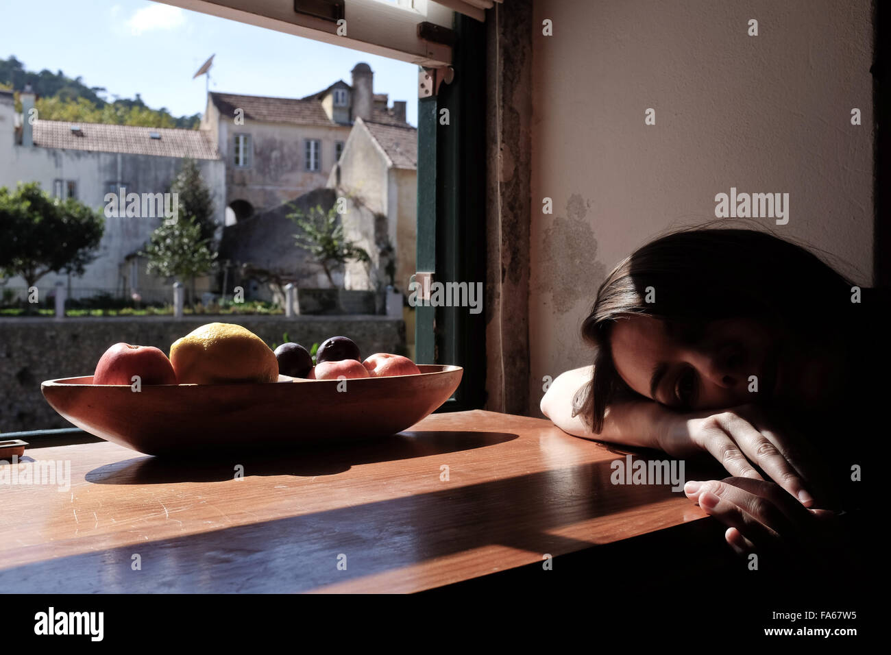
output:
[[[262,339],[233,323],[208,323],[177,339],[170,364],[180,384],[278,381],[278,361]]]

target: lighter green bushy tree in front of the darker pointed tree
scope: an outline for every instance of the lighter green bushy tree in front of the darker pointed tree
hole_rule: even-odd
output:
[[[201,227],[194,217],[162,223],[153,233],[143,252],[148,258],[146,270],[158,277],[174,277],[189,282],[189,302],[195,303],[195,278],[208,274],[217,259],[208,240],[201,238]]]

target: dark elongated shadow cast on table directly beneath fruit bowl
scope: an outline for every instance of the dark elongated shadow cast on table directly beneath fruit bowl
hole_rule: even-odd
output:
[[[244,477],[336,475],[358,464],[394,462],[433,454],[457,453],[495,446],[517,438],[509,432],[420,430],[361,444],[303,447],[244,454],[189,454],[183,459],[135,457],[106,464],[86,474],[87,482],[104,485],[146,485],[172,482],[217,482],[233,479],[235,467]]]

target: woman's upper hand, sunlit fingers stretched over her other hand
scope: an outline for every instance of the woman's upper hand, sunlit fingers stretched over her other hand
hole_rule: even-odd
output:
[[[809,490],[815,478],[814,458],[804,440],[775,430],[757,405],[717,413],[675,414],[666,419],[660,435],[659,447],[668,454],[705,450],[732,476],[764,480],[762,471],[800,504],[814,504]]]

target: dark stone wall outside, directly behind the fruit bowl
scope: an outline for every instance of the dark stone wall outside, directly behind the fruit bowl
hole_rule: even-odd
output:
[[[119,341],[155,346],[170,344],[204,323],[239,323],[266,341],[282,343],[282,333],[310,348],[328,337],[356,341],[363,356],[376,352],[405,354],[405,323],[388,316],[166,316],[126,318],[0,319],[0,432],[67,428],[40,393],[40,383],[54,378],[92,375],[96,362]]]

